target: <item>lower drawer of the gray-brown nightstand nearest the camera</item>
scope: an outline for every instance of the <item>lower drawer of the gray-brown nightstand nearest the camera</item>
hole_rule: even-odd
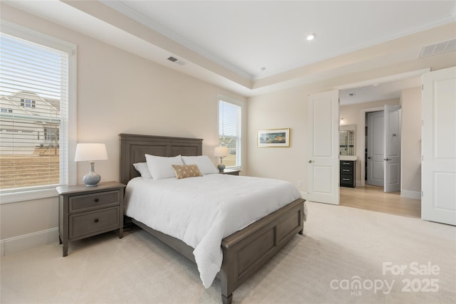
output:
[[[120,225],[120,208],[111,207],[102,210],[73,214],[69,218],[68,239],[76,239],[89,234],[116,229]]]

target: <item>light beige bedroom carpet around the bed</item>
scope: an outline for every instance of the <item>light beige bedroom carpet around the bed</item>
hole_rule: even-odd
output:
[[[456,303],[456,227],[308,203],[294,239],[233,303]],[[140,229],[0,259],[1,303],[221,303],[196,266]]]

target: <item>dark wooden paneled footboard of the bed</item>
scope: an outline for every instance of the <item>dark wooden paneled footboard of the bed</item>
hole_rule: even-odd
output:
[[[304,199],[256,221],[222,241],[223,263],[219,273],[222,301],[232,302],[232,293],[304,228]]]

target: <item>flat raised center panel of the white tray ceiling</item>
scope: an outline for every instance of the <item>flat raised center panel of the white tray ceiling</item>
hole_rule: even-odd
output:
[[[252,79],[447,23],[455,9],[455,1],[103,3]]]

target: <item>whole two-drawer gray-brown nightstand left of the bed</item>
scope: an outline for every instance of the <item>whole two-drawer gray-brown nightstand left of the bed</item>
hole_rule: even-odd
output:
[[[97,187],[86,185],[57,187],[58,241],[63,243],[63,256],[68,255],[68,242],[119,229],[123,237],[123,193],[125,184],[102,182]]]

